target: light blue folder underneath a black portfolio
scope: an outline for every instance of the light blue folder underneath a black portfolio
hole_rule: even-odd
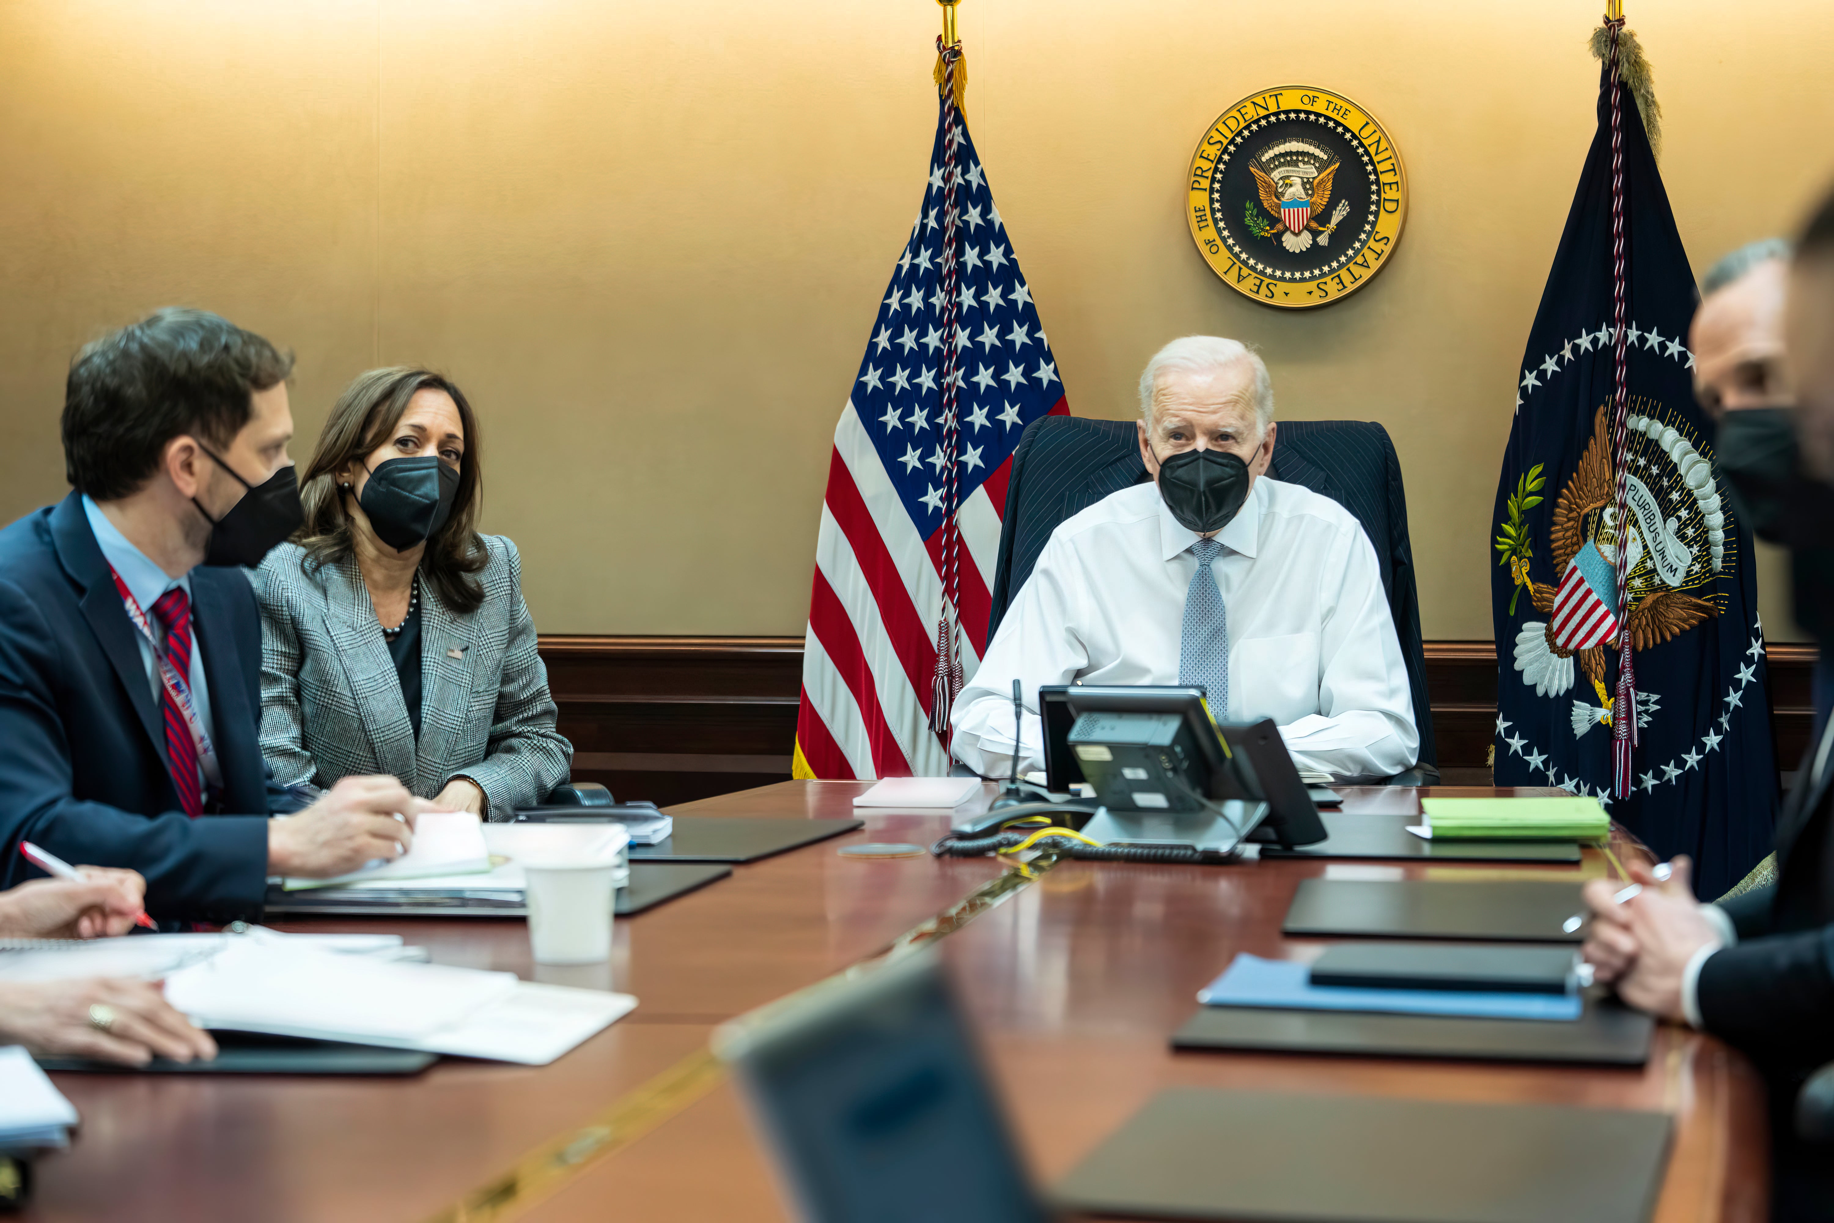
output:
[[[1464,990],[1359,990],[1311,985],[1311,968],[1289,959],[1236,955],[1223,975],[1198,990],[1205,1007],[1278,1010],[1374,1010],[1476,1019],[1577,1019],[1579,994],[1471,994]]]

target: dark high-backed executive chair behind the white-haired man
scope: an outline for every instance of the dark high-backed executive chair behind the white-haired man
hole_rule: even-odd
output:
[[[1152,479],[1141,462],[1135,436],[1132,420],[1082,416],[1040,416],[1025,429],[1012,453],[1012,477],[1007,484],[989,640],[1058,523],[1110,493]],[[1407,541],[1407,493],[1401,488],[1401,460],[1388,431],[1364,420],[1282,420],[1267,475],[1302,484],[1344,506],[1376,545],[1420,730],[1420,765],[1390,781],[1436,783],[1438,752],[1432,744],[1432,706],[1427,700],[1427,658],[1420,645],[1414,550]]]

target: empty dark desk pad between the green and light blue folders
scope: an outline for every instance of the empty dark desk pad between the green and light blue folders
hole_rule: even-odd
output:
[[[1280,931],[1300,939],[1583,942],[1583,926],[1564,928],[1583,908],[1579,884],[1308,878],[1300,880]]]

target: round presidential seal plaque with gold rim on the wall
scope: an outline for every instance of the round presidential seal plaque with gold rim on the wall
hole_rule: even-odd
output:
[[[1407,174],[1376,116],[1286,84],[1225,110],[1190,158],[1190,237],[1223,284],[1304,310],[1368,284],[1401,237]]]

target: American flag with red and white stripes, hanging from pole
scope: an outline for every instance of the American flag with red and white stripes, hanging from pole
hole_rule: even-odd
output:
[[[948,279],[956,292],[945,299]],[[950,370],[954,440],[945,413]],[[923,209],[834,425],[796,721],[798,777],[948,772],[930,711],[950,552],[959,592],[952,636],[961,673],[972,677],[987,653],[1012,447],[1033,420],[1066,413],[1031,288],[974,141],[943,90]],[[946,530],[952,493],[957,548]]]

